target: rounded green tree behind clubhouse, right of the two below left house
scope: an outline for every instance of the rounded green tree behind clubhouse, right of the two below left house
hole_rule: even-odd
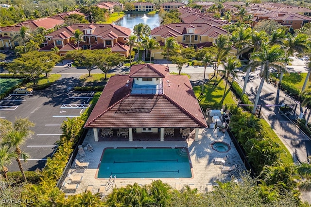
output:
[[[97,50],[95,55],[95,65],[105,73],[105,80],[107,79],[107,72],[110,69],[125,61],[125,57],[121,56],[119,53],[111,52],[110,48]]]

